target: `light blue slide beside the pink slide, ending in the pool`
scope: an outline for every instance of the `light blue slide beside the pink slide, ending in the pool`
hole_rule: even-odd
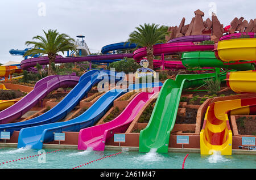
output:
[[[54,140],[55,132],[77,132],[82,128],[93,126],[113,106],[113,101],[128,90],[157,86],[162,86],[162,83],[130,85],[128,89],[112,89],[101,96],[79,117],[65,122],[22,128],[19,132],[18,148],[28,146],[33,149],[42,149],[44,142]]]

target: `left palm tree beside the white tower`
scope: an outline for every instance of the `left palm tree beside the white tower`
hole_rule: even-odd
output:
[[[57,30],[49,29],[48,32],[44,32],[43,36],[35,36],[33,40],[36,41],[26,41],[26,45],[34,45],[34,48],[27,50],[27,52],[23,55],[24,57],[32,54],[47,54],[49,58],[49,68],[48,68],[48,76],[55,74],[53,71],[53,66],[55,65],[55,58],[57,53],[62,52],[64,54],[67,50],[76,50],[76,46],[73,42],[75,40],[64,33],[59,33]],[[33,55],[32,55],[33,56]]]

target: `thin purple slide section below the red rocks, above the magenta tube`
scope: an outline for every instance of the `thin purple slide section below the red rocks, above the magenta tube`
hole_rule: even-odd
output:
[[[191,35],[191,36],[182,36],[169,40],[167,43],[171,42],[201,42],[205,40],[210,40],[209,35]]]

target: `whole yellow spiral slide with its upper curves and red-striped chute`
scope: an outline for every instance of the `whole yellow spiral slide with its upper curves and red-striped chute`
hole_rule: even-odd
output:
[[[248,33],[224,36],[215,44],[214,53],[226,65],[250,65],[250,62],[256,60],[256,38],[254,37],[254,34]],[[255,79],[254,70],[228,72],[226,83],[234,92],[256,93]],[[238,108],[231,112],[255,113],[254,104],[255,98],[220,101],[210,104],[200,132],[201,154],[210,155],[213,151],[220,151],[222,155],[231,155],[232,132],[228,115],[225,115],[225,112]]]

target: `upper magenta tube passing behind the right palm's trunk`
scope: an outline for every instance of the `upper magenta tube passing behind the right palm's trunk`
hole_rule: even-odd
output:
[[[194,51],[204,51],[204,50],[213,50],[214,45],[195,45],[193,42],[172,42],[167,44],[156,44],[154,45],[154,55],[161,54],[174,54],[177,52],[194,52]],[[146,47],[139,48],[134,51],[133,58],[136,61],[141,60],[143,57],[146,57]]]

